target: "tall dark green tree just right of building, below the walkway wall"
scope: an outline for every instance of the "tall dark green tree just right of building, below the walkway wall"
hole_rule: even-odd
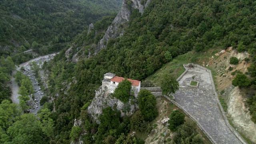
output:
[[[140,90],[138,93],[138,105],[141,114],[146,121],[152,121],[158,115],[156,110],[156,97],[148,90]]]

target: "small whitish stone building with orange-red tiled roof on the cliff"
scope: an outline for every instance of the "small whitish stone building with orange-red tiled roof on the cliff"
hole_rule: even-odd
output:
[[[106,73],[104,74],[104,79],[102,80],[102,86],[107,87],[107,93],[114,93],[115,89],[117,88],[118,84],[125,80],[125,78],[116,76],[113,73]],[[140,92],[140,81],[132,80],[127,78],[132,83],[131,93],[136,96]]]

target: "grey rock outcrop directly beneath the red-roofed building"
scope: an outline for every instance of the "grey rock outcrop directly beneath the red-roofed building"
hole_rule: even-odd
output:
[[[121,111],[121,116],[131,115],[138,109],[138,105],[131,101],[128,104],[124,104],[120,100],[113,98],[108,94],[106,87],[100,86],[100,88],[95,93],[95,98],[92,100],[92,103],[88,107],[88,114],[91,114],[92,118],[100,124],[98,116],[102,114],[102,109],[110,106],[112,109],[116,107],[117,110]]]

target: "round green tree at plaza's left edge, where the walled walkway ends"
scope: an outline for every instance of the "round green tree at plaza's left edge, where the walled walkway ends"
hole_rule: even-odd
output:
[[[161,82],[162,95],[168,95],[175,93],[179,90],[179,83],[172,76],[165,75]]]

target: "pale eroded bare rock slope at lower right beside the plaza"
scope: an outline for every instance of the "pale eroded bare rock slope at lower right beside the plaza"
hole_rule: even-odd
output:
[[[238,86],[232,86],[230,89],[227,95],[228,115],[238,131],[256,143],[256,124],[252,122],[248,107],[245,105],[246,98],[240,94]]]

